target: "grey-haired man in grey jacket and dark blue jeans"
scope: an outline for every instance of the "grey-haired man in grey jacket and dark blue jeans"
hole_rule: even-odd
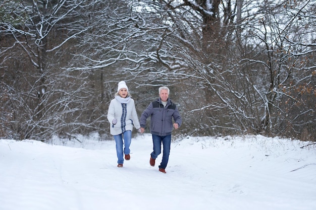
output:
[[[163,144],[163,159],[159,171],[166,173],[169,160],[171,131],[178,129],[182,123],[176,104],[169,99],[168,87],[159,88],[159,98],[152,101],[140,116],[140,132],[145,130],[146,119],[150,116],[150,133],[152,135],[153,152],[150,154],[149,163],[155,165],[155,159],[161,154]],[[174,123],[172,122],[174,119]]]

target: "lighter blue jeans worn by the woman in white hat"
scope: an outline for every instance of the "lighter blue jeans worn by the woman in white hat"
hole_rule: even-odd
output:
[[[118,164],[123,164],[123,138],[124,138],[124,154],[130,154],[129,146],[132,142],[132,131],[126,130],[124,133],[114,135],[114,140],[116,143],[116,155],[118,156]]]

